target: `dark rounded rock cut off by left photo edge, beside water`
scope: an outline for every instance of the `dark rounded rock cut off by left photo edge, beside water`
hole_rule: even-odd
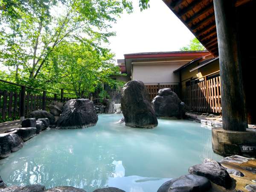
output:
[[[23,141],[17,134],[0,134],[0,158],[5,158],[11,152],[18,151],[23,147]]]

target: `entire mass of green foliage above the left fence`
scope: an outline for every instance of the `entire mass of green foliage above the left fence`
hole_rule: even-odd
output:
[[[147,9],[149,0],[140,0]],[[113,53],[102,48],[130,0],[0,0],[0,78],[59,93],[119,84]],[[72,92],[71,92],[72,93]]]

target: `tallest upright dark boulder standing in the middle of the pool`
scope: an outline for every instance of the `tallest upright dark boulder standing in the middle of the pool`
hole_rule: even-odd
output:
[[[128,81],[124,85],[121,108],[127,126],[153,128],[158,124],[142,81]]]

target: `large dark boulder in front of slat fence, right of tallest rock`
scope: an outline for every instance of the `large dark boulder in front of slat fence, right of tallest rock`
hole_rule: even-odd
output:
[[[184,103],[170,88],[160,89],[152,106],[157,116],[183,118],[185,115]]]

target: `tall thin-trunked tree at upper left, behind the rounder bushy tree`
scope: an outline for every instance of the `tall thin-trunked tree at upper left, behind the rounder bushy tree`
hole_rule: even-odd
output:
[[[140,7],[147,9],[148,1],[140,0]],[[49,66],[52,59],[58,61],[53,54],[60,47],[87,41],[101,54],[101,44],[115,35],[111,23],[123,11],[132,10],[130,0],[0,0],[0,63],[13,69],[10,73],[15,74],[16,82],[42,86],[40,82],[55,75]]]

